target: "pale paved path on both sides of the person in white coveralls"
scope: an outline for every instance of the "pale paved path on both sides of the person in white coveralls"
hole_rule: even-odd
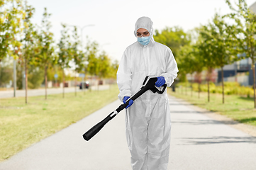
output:
[[[1,170],[128,170],[124,111],[89,142],[82,134],[121,104],[115,101],[0,163]],[[255,170],[256,137],[169,96],[172,141],[168,169]]]

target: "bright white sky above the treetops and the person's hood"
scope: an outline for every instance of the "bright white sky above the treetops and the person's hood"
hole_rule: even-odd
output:
[[[247,5],[255,1],[247,0]],[[84,45],[88,36],[112,60],[121,60],[126,47],[136,41],[133,30],[141,16],[150,17],[157,30],[179,26],[187,31],[206,24],[216,11],[230,12],[225,0],[28,0],[28,4],[35,8],[33,23],[40,24],[45,7],[52,13],[51,31],[56,42],[60,40],[61,23],[80,28],[93,24],[83,30]]]

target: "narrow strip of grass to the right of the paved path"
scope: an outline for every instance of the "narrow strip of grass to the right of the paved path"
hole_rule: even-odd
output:
[[[210,102],[208,102],[208,94],[206,92],[201,92],[200,98],[198,97],[198,92],[193,91],[193,96],[191,96],[191,91],[188,90],[186,95],[184,89],[181,91],[178,88],[175,93],[168,89],[168,94],[182,98],[195,106],[206,108],[208,111],[226,115],[228,118],[237,120],[240,123],[256,126],[256,110],[254,109],[253,98],[225,95],[225,103],[223,104],[222,94],[210,94]]]

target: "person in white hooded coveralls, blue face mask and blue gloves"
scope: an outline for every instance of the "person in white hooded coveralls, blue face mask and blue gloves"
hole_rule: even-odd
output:
[[[118,98],[126,100],[140,90],[145,77],[157,77],[156,86],[171,86],[177,62],[169,47],[155,42],[153,23],[141,17],[135,23],[135,43],[128,46],[118,67]],[[171,136],[170,108],[164,94],[146,91],[126,109],[126,137],[133,170],[167,169]]]

